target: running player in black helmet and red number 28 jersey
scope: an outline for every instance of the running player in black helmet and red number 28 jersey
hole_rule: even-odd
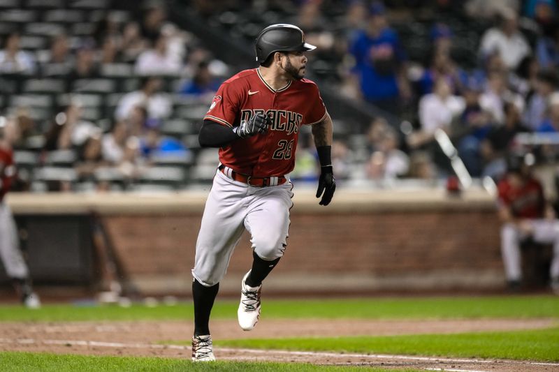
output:
[[[331,165],[332,120],[319,89],[304,79],[305,52],[316,47],[292,24],[273,24],[256,38],[259,68],[226,80],[204,117],[199,140],[219,147],[219,167],[205,204],[192,275],[194,337],[192,359],[215,360],[210,312],[219,281],[242,232],[252,243],[252,269],[242,278],[239,325],[250,331],[260,316],[262,281],[282,258],[289,230],[300,126],[311,125],[321,175],[319,204],[335,191]]]

